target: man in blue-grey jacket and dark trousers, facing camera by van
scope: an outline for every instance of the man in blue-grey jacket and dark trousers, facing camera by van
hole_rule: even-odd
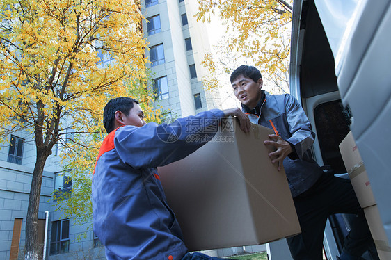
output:
[[[262,76],[255,67],[242,65],[230,77],[234,94],[251,122],[274,130],[265,140],[276,147],[272,163],[282,165],[301,225],[301,235],[288,238],[289,250],[296,259],[322,258],[324,227],[330,214],[353,213],[358,218],[345,238],[340,259],[360,259],[373,243],[363,211],[347,179],[323,172],[312,159],[309,148],[315,134],[298,101],[291,95],[269,95],[262,90]]]

